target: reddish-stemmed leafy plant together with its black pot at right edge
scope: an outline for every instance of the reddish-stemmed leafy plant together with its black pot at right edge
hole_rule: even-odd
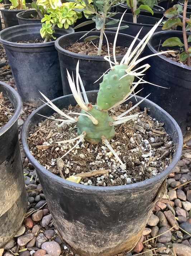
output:
[[[151,69],[146,72],[147,81],[163,84],[168,89],[158,90],[156,87],[147,85],[144,86],[145,90],[142,92],[144,96],[151,91],[150,99],[175,118],[185,139],[191,137],[191,45],[189,45],[191,34],[186,32],[190,31],[191,20],[186,18],[187,2],[185,1],[184,4],[182,21],[180,18],[174,17],[182,12],[180,5],[173,6],[164,14],[169,19],[164,23],[163,29],[179,25],[182,27],[182,31],[157,32],[148,42],[147,54],[169,48],[177,51],[149,59]]]

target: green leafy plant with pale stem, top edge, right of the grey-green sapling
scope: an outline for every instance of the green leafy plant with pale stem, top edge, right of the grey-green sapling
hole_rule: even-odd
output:
[[[157,0],[126,0],[126,3],[130,7],[133,14],[133,23],[137,23],[137,14],[140,13],[141,9],[147,10],[153,15],[152,8],[154,4],[157,4]]]

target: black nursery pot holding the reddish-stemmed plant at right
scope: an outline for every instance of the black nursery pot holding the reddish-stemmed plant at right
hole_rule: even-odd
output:
[[[179,37],[183,42],[181,31],[160,31],[152,35],[147,44],[146,54],[167,50],[162,43],[169,37]],[[171,48],[172,49],[172,48]],[[177,49],[173,47],[173,49]],[[166,110],[182,130],[183,136],[191,136],[191,67],[180,64],[163,55],[148,58],[151,66],[146,71],[145,80],[169,89],[146,84],[142,96],[148,95],[149,99]]]

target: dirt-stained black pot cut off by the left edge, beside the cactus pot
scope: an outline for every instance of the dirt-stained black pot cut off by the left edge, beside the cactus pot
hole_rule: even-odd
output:
[[[3,248],[20,229],[28,204],[17,125],[22,100],[12,87],[3,82],[0,82],[0,92],[15,109],[11,119],[0,129],[0,248]]]

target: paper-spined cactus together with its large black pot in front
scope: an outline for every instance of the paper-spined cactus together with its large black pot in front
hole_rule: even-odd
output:
[[[123,252],[125,255],[125,252],[127,253],[128,251],[132,250],[144,230],[149,215],[152,212],[154,203],[160,194],[164,193],[166,187],[164,181],[165,178],[171,172],[172,168],[176,165],[181,156],[182,134],[175,120],[173,120],[172,117],[170,117],[156,104],[153,104],[148,100],[144,101],[144,99],[141,99],[140,97],[137,98],[138,102],[133,100],[133,103],[135,104],[133,108],[140,103],[140,108],[142,110],[144,110],[145,106],[148,107],[151,111],[151,115],[157,118],[158,122],[164,122],[167,133],[171,136],[171,140],[176,145],[176,153],[173,155],[172,162],[167,168],[164,167],[165,170],[163,170],[163,172],[156,176],[153,175],[151,179],[131,184],[132,180],[130,179],[131,181],[129,181],[128,175],[125,176],[125,174],[128,173],[128,166],[131,164],[134,165],[136,161],[133,161],[132,158],[129,158],[130,160],[128,160],[127,158],[123,157],[123,155],[120,155],[120,149],[122,149],[121,146],[123,143],[121,144],[119,142],[119,147],[117,147],[115,150],[113,149],[114,144],[117,141],[117,134],[114,126],[119,125],[118,129],[116,130],[119,132],[119,130],[122,129],[122,123],[132,120],[132,118],[135,118],[136,116],[142,118],[139,111],[133,116],[127,116],[130,109],[126,109],[122,111],[119,116],[114,115],[113,117],[109,116],[108,111],[109,109],[112,110],[113,107],[117,108],[119,104],[126,104],[127,98],[132,99],[133,95],[130,96],[130,93],[140,82],[142,82],[143,79],[141,77],[143,72],[149,68],[149,65],[144,64],[139,68],[136,68],[135,66],[141,62],[141,59],[138,60],[138,57],[143,51],[144,46],[146,45],[153,31],[154,28],[152,31],[150,31],[150,33],[148,33],[147,36],[145,36],[143,41],[139,42],[139,44],[135,46],[133,52],[131,52],[133,49],[133,44],[136,41],[136,39],[134,39],[120,64],[117,63],[115,54],[114,62],[111,62],[110,57],[108,57],[110,71],[108,73],[106,73],[107,71],[105,72],[103,80],[100,84],[97,100],[97,91],[88,92],[86,95],[83,83],[79,76],[79,67],[77,65],[76,86],[74,78],[68,72],[68,80],[73,95],[60,97],[53,100],[53,102],[44,96],[52,109],[50,109],[48,105],[43,105],[42,107],[38,108],[30,115],[30,117],[24,123],[22,129],[22,143],[25,154],[37,171],[40,183],[42,184],[43,193],[46,196],[49,210],[51,211],[54,223],[58,229],[58,234],[61,236],[61,239],[63,239],[65,244],[67,244],[67,246],[72,248],[73,252],[80,256],[113,256],[121,252]],[[103,72],[104,71],[105,70],[103,70]],[[138,82],[133,82],[135,76],[140,78]],[[82,89],[82,95],[80,93],[79,81]],[[75,100],[81,107],[80,113],[78,111],[78,114],[77,112],[73,113],[70,111],[71,108],[69,110],[69,114],[59,110],[63,107],[67,108],[68,104],[75,105]],[[97,104],[89,103],[95,101]],[[65,118],[61,118],[60,120],[60,117],[58,116],[56,116],[56,118],[55,116],[53,117],[52,115],[54,111],[57,111],[62,117]],[[43,144],[44,148],[43,145],[37,144],[35,144],[34,148],[29,148],[28,141],[29,143],[31,142],[32,137],[30,137],[30,134],[31,131],[32,133],[34,131],[34,125],[37,125],[42,120],[42,116],[46,115],[51,115],[50,118],[53,118],[53,129],[55,129],[53,133],[56,132],[57,134],[61,135],[60,138],[62,138],[63,141],[61,142],[59,139],[56,141],[53,139],[53,137],[51,138],[51,133],[44,129],[46,125],[44,126],[44,123],[42,123],[40,125],[40,133],[42,134],[45,132],[47,135],[49,134],[50,144],[48,145],[48,142],[46,141]],[[58,125],[58,123],[56,124],[58,121],[61,121],[62,123],[60,125]],[[74,131],[72,128],[74,127],[72,126],[72,123],[73,125],[77,126],[77,135],[76,131]],[[138,133],[132,132],[132,135],[131,125],[130,123],[127,124],[128,128],[125,133],[129,133],[129,135],[133,136],[134,139],[135,137],[138,138]],[[152,129],[151,127],[149,129]],[[72,131],[72,138],[66,135],[68,130]],[[124,136],[125,134],[119,137],[122,138]],[[27,141],[28,137],[29,140]],[[37,137],[35,140],[36,139]],[[83,141],[83,139],[87,140],[88,143]],[[77,142],[74,143],[75,141]],[[38,142],[40,143],[39,140]],[[67,143],[70,143],[71,145],[67,146]],[[104,146],[102,146],[101,143],[103,143]],[[45,147],[48,147],[49,152],[51,151],[54,153],[54,144],[56,145],[55,150],[59,155],[58,158],[56,157],[57,167],[62,178],[52,173],[56,170],[56,166],[54,166],[54,170],[52,170],[49,164],[51,166],[53,165],[47,162],[46,168],[50,170],[48,171],[34,158],[34,156],[38,158],[38,154],[46,154],[47,151]],[[89,145],[89,150],[86,148],[86,144]],[[63,151],[61,149],[62,145]],[[123,146],[124,151],[126,152],[128,150],[126,144],[123,144]],[[83,151],[81,154],[80,149]],[[90,157],[91,159],[89,159],[87,156],[88,151],[90,151],[90,154],[92,155],[95,154],[95,156],[93,158]],[[146,151],[144,151],[144,153],[145,152]],[[99,164],[103,160],[101,156],[106,157],[105,160],[108,159],[108,165],[106,162],[106,169],[109,168],[113,170],[113,168],[115,168],[117,175],[113,175],[115,178],[120,177],[123,180],[121,181],[121,184],[124,185],[118,186],[119,178],[118,181],[115,181],[114,183],[116,186],[113,186],[112,184],[110,187],[105,186],[106,184],[104,183],[107,179],[106,176],[109,177],[108,179],[110,182],[112,182],[111,178],[113,175],[109,176],[109,170],[104,170],[102,168],[99,169]],[[80,159],[83,159],[83,163],[80,163]],[[116,166],[114,167],[113,165],[109,165],[111,162],[113,162],[113,164]],[[54,165],[55,164],[56,161],[54,161]],[[65,169],[65,167],[67,167],[67,169]],[[80,173],[82,170],[81,168],[83,169],[83,173]],[[97,181],[95,181],[96,185],[91,186],[92,183],[90,182],[91,180],[89,180],[91,176],[87,176],[89,177],[87,183],[81,182],[81,184],[78,184],[72,182],[74,180],[79,182],[79,179],[81,178],[80,176],[87,174],[87,172],[84,171],[85,168],[86,171],[88,169],[91,171],[91,175],[94,175],[93,173],[96,172],[96,175],[99,178],[102,172],[103,176],[101,176],[100,182],[97,182],[99,181],[99,179],[97,179]],[[108,175],[105,173],[104,176],[104,171],[108,171]],[[73,172],[75,172],[75,175]],[[68,179],[65,179],[66,175],[68,176]],[[144,202],[144,207],[142,206],[141,202]]]

